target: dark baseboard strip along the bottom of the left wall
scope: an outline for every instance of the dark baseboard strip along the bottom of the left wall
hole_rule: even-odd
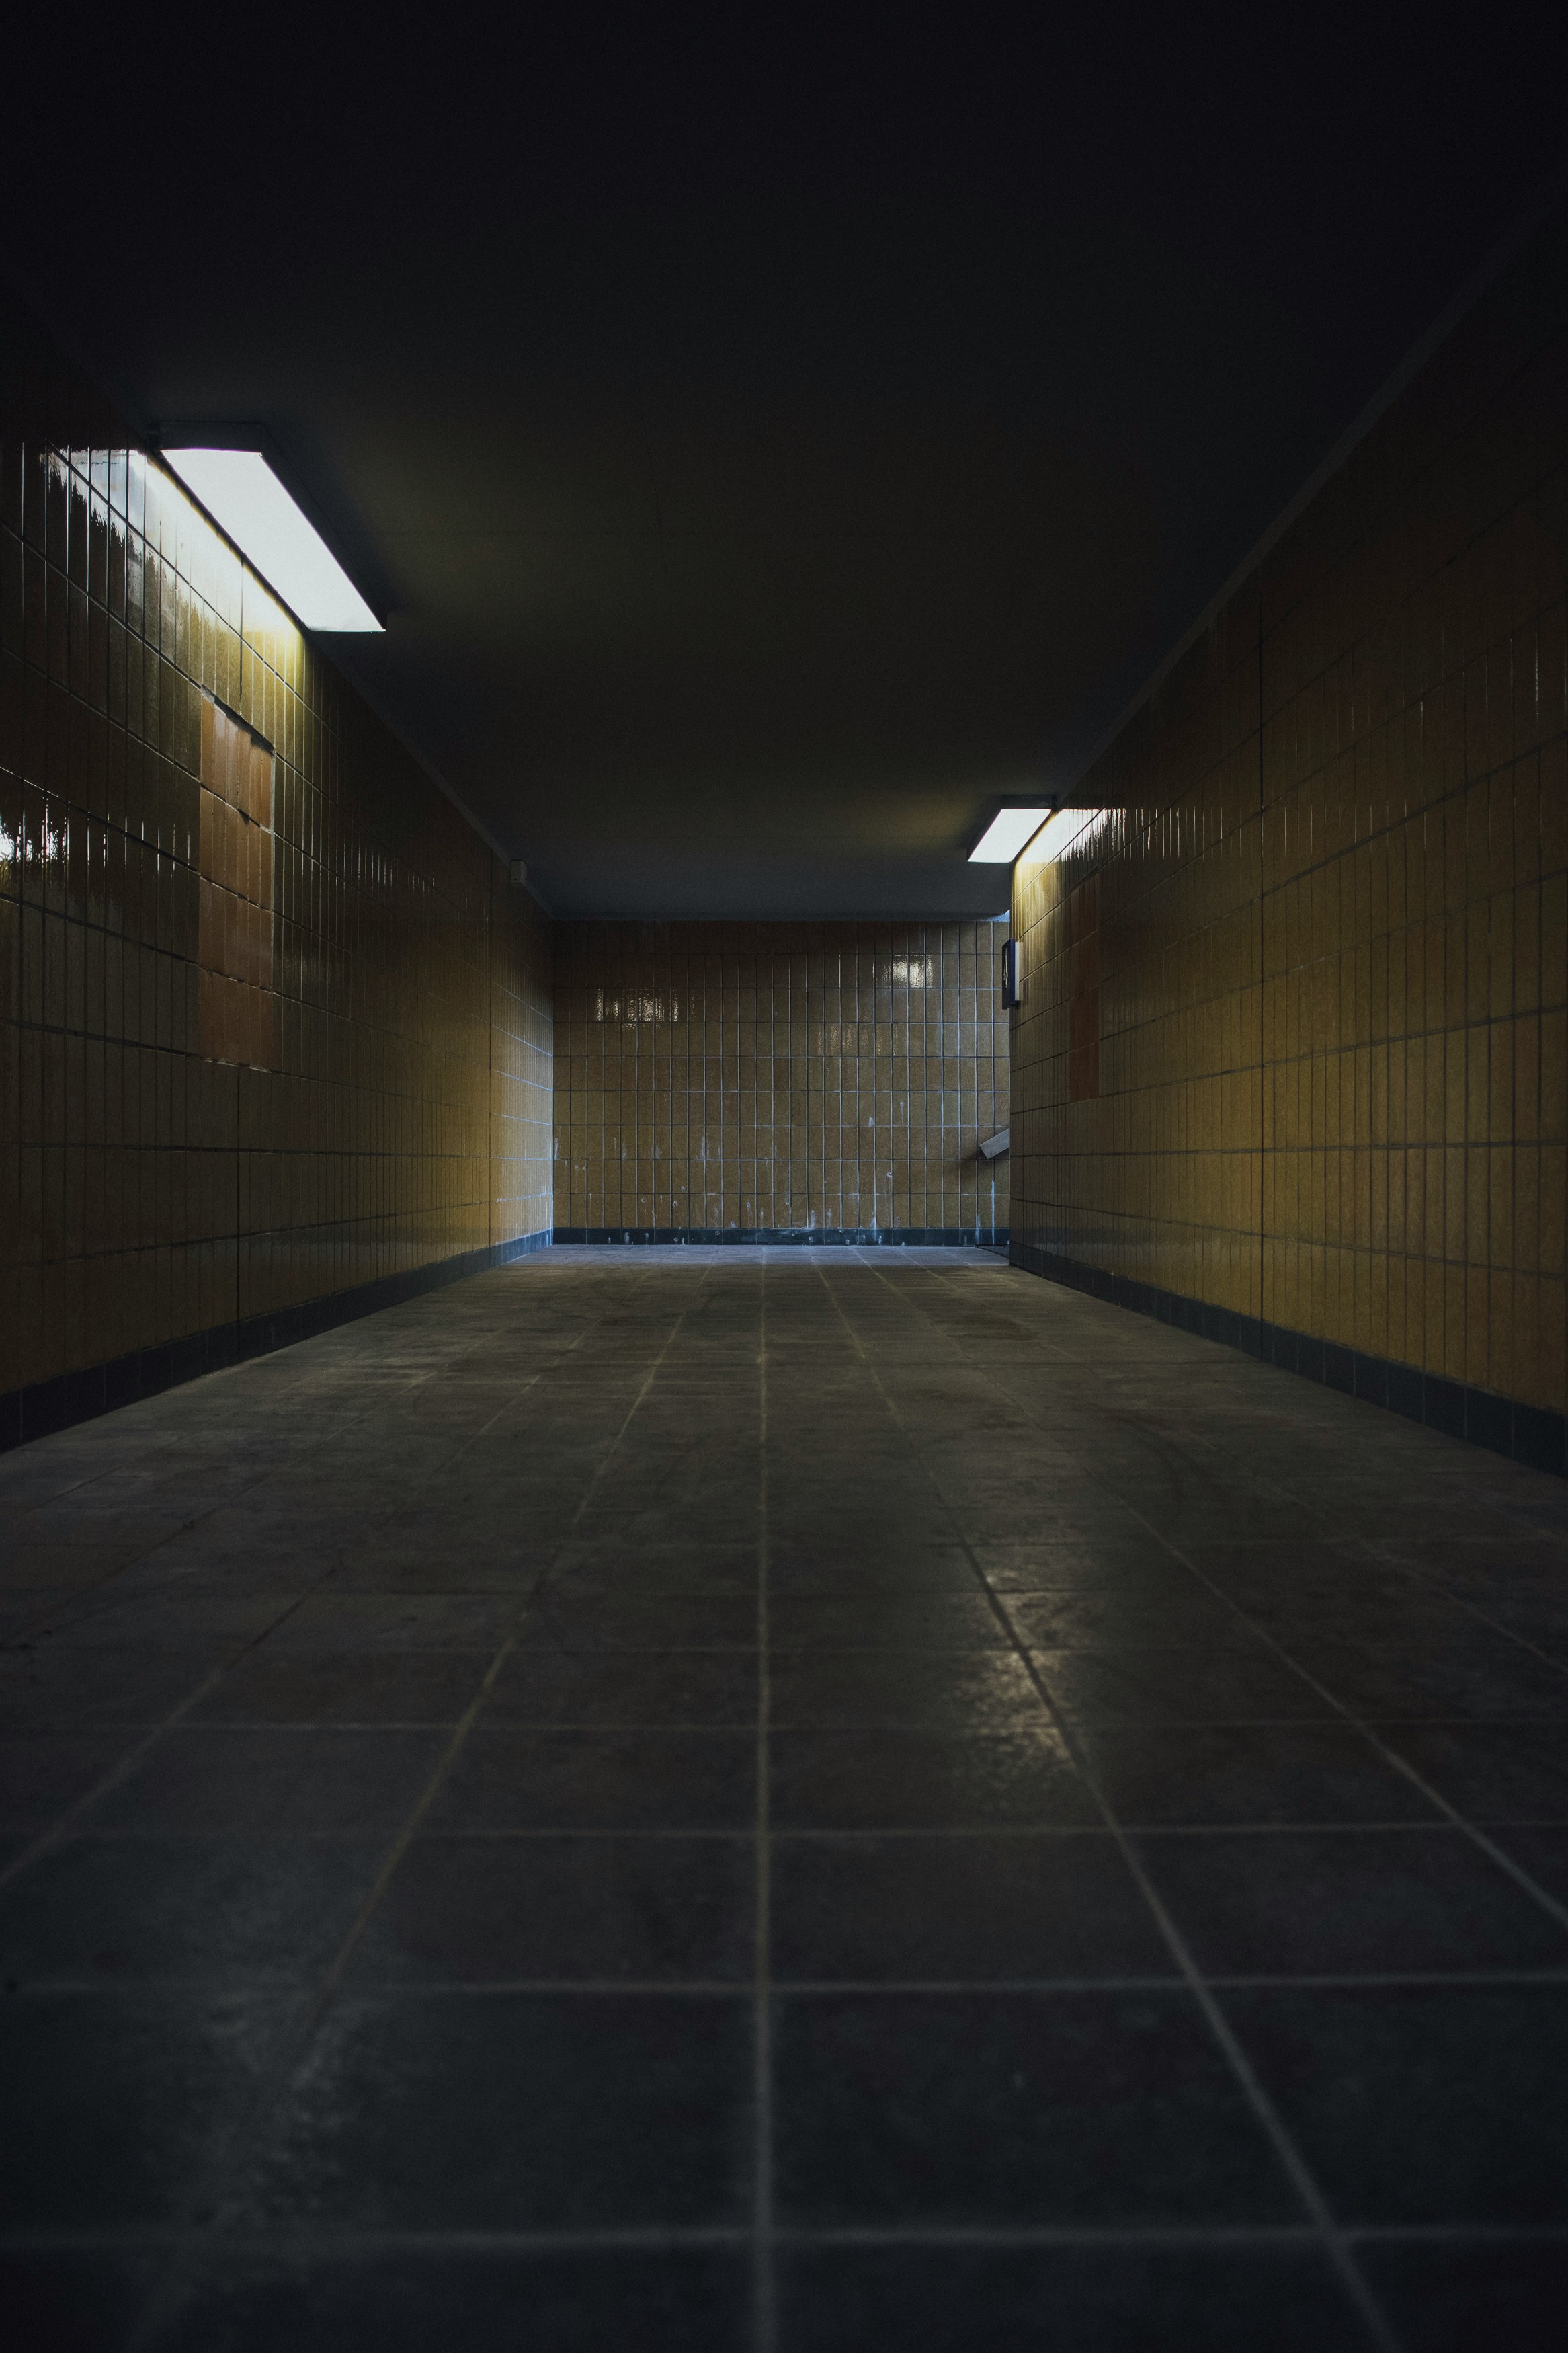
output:
[[[346,1292],[329,1292],[324,1299],[308,1299],[296,1308],[244,1315],[240,1322],[190,1332],[188,1339],[167,1341],[162,1348],[139,1348],[110,1365],[92,1365],[87,1372],[63,1372],[56,1381],[12,1388],[0,1395],[0,1454],[31,1438],[68,1431],[75,1421],[113,1414],[120,1405],[136,1405],[139,1398],[179,1388],[181,1381],[197,1381],[205,1372],[223,1372],[226,1365],[242,1365],[252,1355],[292,1348],[294,1341],[336,1332],[339,1325],[357,1322],[360,1315],[376,1315],[404,1299],[418,1299],[421,1292],[440,1292],[447,1282],[484,1275],[494,1266],[510,1266],[512,1259],[527,1259],[548,1247],[550,1233],[524,1233],[515,1242],[461,1249],[454,1259],[411,1266],[402,1275],[381,1275],[376,1282],[355,1282]]]

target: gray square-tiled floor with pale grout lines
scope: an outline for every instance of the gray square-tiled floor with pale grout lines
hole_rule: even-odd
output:
[[[557,1249],[0,1537],[26,2353],[1561,2344],[1559,1482],[973,1252]]]

